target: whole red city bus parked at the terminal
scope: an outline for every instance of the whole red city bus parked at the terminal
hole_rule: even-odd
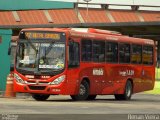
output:
[[[20,32],[17,46],[14,90],[35,100],[59,94],[129,100],[154,87],[153,40],[93,28],[33,28]]]

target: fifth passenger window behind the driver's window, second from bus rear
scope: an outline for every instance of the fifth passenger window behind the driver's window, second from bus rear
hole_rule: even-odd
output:
[[[133,64],[142,63],[142,46],[141,45],[132,45],[131,63]]]

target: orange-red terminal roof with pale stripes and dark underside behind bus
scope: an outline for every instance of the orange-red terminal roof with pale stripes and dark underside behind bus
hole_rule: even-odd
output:
[[[94,27],[114,30],[158,41],[160,59],[160,11],[139,10],[140,7],[160,6],[91,3],[101,7],[84,8],[79,7],[79,4],[84,3],[56,4],[59,7],[1,10],[0,28],[12,29],[13,35],[18,35],[22,28],[31,27]],[[130,9],[110,9],[110,6],[128,6]]]

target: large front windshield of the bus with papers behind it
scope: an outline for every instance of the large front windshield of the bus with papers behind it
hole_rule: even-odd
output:
[[[16,68],[25,72],[50,73],[64,69],[65,43],[28,42],[18,44]]]

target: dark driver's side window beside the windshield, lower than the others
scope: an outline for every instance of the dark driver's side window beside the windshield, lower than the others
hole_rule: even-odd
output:
[[[79,57],[79,43],[69,42],[69,63],[68,67],[78,67],[80,63]]]

